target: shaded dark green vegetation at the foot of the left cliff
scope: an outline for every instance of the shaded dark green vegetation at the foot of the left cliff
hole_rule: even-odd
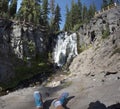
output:
[[[41,59],[42,58],[42,59]],[[28,63],[31,65],[28,66]],[[47,62],[45,56],[43,58],[40,56],[37,56],[37,59],[33,58],[29,61],[24,57],[24,65],[19,65],[14,68],[15,76],[14,78],[11,78],[10,81],[6,83],[0,83],[0,86],[6,90],[8,88],[14,88],[16,87],[20,82],[30,79],[33,76],[46,72],[51,73],[52,68],[50,64]]]

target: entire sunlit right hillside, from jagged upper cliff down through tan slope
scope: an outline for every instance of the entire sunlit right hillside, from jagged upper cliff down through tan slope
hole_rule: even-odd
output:
[[[91,24],[86,25],[87,31],[83,28],[83,37],[80,39],[84,44],[91,47],[79,54],[70,65],[72,73],[94,78],[100,84],[104,81],[116,80],[120,78],[120,8],[114,8],[95,18]],[[108,25],[109,24],[109,25]],[[103,27],[109,27],[109,35],[103,38]],[[89,29],[88,29],[89,27]],[[82,30],[80,30],[82,31]],[[90,31],[90,36],[88,35]],[[92,31],[94,39],[92,40]],[[81,34],[81,33],[79,33]],[[86,40],[85,40],[86,39]],[[95,83],[94,83],[95,84]]]

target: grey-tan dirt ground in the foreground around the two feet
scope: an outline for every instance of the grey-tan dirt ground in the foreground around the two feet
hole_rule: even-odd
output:
[[[49,83],[46,86],[19,89],[2,96],[0,97],[0,109],[35,109],[33,98],[35,90],[42,93],[44,109],[49,109],[52,100],[62,92],[69,92],[65,109],[116,109],[115,106],[120,108],[120,80],[98,84],[91,78],[80,79],[79,75],[63,78],[65,81],[55,87],[50,86]],[[92,82],[96,85],[93,86]]]

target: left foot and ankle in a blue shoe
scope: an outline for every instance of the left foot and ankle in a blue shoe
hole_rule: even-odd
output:
[[[34,92],[35,105],[37,109],[43,109],[42,95],[39,91]]]

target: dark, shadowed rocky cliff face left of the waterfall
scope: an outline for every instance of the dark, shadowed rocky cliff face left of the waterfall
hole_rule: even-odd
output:
[[[0,19],[0,82],[14,75],[13,57],[22,59],[42,54],[46,51],[44,43],[39,28]]]

